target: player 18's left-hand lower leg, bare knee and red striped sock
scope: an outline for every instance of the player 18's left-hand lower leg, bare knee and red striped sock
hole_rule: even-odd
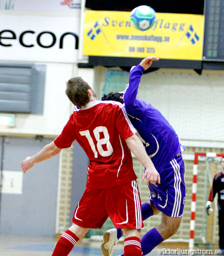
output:
[[[59,238],[52,256],[67,256],[76,242],[79,241],[88,230],[89,228],[80,227],[73,223]]]

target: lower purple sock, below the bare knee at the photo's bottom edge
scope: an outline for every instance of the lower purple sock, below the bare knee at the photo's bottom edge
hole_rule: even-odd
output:
[[[143,255],[147,255],[152,251],[158,244],[162,243],[164,239],[160,235],[160,233],[154,229],[149,230],[144,236],[141,238],[141,249],[143,251]]]

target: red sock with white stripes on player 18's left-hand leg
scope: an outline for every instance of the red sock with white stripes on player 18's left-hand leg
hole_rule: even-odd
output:
[[[67,256],[79,238],[70,230],[66,230],[59,238],[52,256]]]

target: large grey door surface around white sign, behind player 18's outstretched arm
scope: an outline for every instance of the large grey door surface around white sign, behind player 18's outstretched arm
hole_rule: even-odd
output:
[[[4,170],[22,172],[20,162],[50,142],[6,138]],[[23,174],[22,195],[2,194],[0,233],[55,236],[58,162],[57,155]]]

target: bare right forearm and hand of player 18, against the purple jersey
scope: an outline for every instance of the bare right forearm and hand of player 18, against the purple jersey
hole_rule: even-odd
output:
[[[136,134],[130,136],[128,139],[125,140],[128,147],[132,151],[132,153],[137,157],[137,159],[145,166],[145,173],[143,175],[142,180],[146,178],[147,185],[150,183],[156,184],[156,181],[160,183],[160,176],[157,172],[153,162],[147,155],[143,143],[137,137]]]

